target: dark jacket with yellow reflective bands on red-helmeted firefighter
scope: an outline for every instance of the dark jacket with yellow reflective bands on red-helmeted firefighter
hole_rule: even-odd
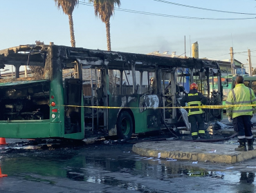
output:
[[[203,101],[202,99],[205,99],[205,96],[201,92],[198,92],[196,89],[190,90],[188,94],[185,94],[183,98],[181,99],[181,106],[185,106],[185,103],[188,103],[188,106],[201,106]],[[203,110],[201,108],[191,108],[188,109],[188,116],[192,114],[202,114]]]

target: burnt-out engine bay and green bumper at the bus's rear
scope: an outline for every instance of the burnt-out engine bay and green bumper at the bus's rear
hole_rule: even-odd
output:
[[[51,136],[49,91],[50,81],[46,80],[1,83],[1,137]]]

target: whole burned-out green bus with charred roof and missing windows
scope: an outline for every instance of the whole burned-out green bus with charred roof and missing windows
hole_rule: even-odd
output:
[[[19,45],[0,50],[1,68],[15,77],[0,79],[0,136],[19,139],[84,139],[101,133],[131,134],[188,124],[176,109],[185,77],[199,85],[208,105],[221,105],[221,72],[214,61],[107,52],[63,45]],[[19,77],[21,66],[42,76]],[[190,69],[183,70],[183,69]],[[210,78],[219,88],[210,90]],[[205,122],[221,110],[205,110]]]

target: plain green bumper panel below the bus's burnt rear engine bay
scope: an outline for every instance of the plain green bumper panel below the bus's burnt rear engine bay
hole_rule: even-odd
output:
[[[39,122],[39,123],[38,123]],[[4,138],[48,138],[51,136],[49,121],[0,122],[0,137]]]

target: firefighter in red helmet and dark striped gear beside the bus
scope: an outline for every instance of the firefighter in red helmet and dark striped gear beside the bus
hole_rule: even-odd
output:
[[[198,85],[192,83],[190,85],[190,92],[185,94],[181,99],[181,106],[185,106],[185,103],[191,106],[201,106],[202,103],[205,105],[207,98],[203,96],[201,92],[198,92]],[[205,139],[205,129],[203,121],[203,110],[201,108],[190,108],[188,109],[188,121],[191,123],[191,135],[192,139],[196,140],[198,136],[201,139]]]

